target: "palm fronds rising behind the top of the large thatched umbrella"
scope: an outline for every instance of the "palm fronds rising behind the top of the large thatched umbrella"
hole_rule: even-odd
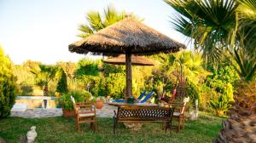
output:
[[[111,5],[108,6],[107,9],[104,9],[103,15],[101,15],[99,12],[91,11],[86,15],[86,19],[88,20],[89,24],[79,26],[79,31],[82,31],[82,33],[80,33],[78,37],[88,37],[90,34],[93,34],[96,31],[110,26],[119,20],[123,20],[125,15],[125,11],[118,12]]]

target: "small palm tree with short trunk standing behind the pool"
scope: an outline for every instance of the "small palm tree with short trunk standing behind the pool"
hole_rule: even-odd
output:
[[[48,95],[49,82],[57,76],[57,66],[39,65],[32,68],[31,72],[36,77],[36,84],[44,89],[44,95]]]

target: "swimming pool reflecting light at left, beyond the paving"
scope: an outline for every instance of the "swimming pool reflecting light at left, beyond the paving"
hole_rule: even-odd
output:
[[[17,108],[23,105],[23,108],[46,108],[55,109],[58,107],[57,98],[50,96],[17,96],[15,100]]]

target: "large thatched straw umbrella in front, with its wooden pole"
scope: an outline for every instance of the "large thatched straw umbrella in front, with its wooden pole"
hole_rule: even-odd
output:
[[[155,31],[138,20],[127,17],[95,34],[68,46],[79,54],[103,54],[118,56],[125,54],[126,98],[131,91],[131,54],[150,55],[177,52],[185,46],[170,37]]]

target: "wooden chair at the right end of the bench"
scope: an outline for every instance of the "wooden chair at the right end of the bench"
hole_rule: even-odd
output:
[[[177,103],[177,102],[170,102],[165,103],[165,106],[169,107],[175,107],[175,112],[173,112],[173,118],[177,119],[177,126],[172,126],[172,128],[177,128],[177,132],[180,131],[180,129],[183,129],[184,126],[184,120],[185,120],[185,111],[187,108],[189,102],[189,97],[184,98],[183,103]]]

